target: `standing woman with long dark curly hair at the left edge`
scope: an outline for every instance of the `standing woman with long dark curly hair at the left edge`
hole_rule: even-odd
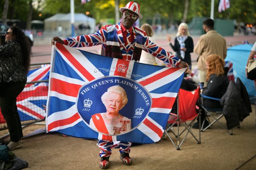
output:
[[[21,147],[23,137],[16,98],[27,81],[31,47],[20,27],[12,26],[0,45],[0,108],[10,133],[9,149]]]

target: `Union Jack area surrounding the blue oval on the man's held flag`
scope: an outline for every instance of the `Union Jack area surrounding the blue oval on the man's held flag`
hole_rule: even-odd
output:
[[[120,72],[117,69],[120,64],[128,68]],[[104,57],[56,43],[52,47],[46,131],[57,131],[80,138],[136,143],[157,142],[164,132],[184,71],[184,68],[154,66]],[[109,76],[128,78],[140,84],[152,98],[145,119],[132,131],[121,135],[106,135],[94,131],[76,107],[79,90],[84,84]]]

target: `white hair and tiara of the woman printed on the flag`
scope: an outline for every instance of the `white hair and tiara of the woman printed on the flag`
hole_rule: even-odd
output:
[[[124,90],[124,88],[122,88],[119,85],[111,86],[111,87],[108,88],[108,90],[101,96],[102,103],[104,104],[104,106],[106,106],[108,96],[109,96],[110,93],[113,93],[113,92],[117,93],[121,96],[121,98],[122,98],[122,108],[123,108],[127,104],[128,98],[127,98],[127,94],[126,94],[126,91]]]

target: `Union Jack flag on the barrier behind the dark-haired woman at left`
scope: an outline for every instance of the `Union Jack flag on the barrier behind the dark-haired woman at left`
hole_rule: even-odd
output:
[[[50,65],[30,70],[27,82],[48,80]],[[46,116],[43,105],[46,105],[48,82],[26,84],[24,90],[17,97],[17,109],[21,121],[41,120]],[[0,112],[0,123],[5,123]]]

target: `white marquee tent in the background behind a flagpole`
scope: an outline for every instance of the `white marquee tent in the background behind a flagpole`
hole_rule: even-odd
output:
[[[89,33],[95,32],[96,20],[94,18],[90,18],[83,13],[76,13],[74,14],[74,17],[75,17],[75,22],[74,22],[75,28],[78,29],[78,25],[80,24],[90,25]],[[71,30],[70,13],[68,14],[57,13],[54,16],[50,18],[46,18],[44,20],[44,29],[57,29],[59,25],[61,25],[62,29],[65,31]]]

